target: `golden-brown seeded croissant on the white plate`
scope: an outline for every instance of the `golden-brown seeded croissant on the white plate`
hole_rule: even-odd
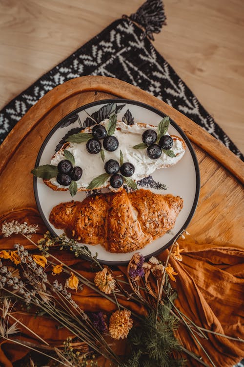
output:
[[[49,221],[79,242],[101,244],[109,252],[132,252],[172,229],[182,208],[179,196],[123,189],[61,203],[52,209]]]

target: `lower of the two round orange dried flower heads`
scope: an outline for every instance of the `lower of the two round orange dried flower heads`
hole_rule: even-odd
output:
[[[127,338],[130,329],[133,325],[133,320],[130,319],[131,312],[127,310],[115,311],[109,321],[109,334],[113,339]]]

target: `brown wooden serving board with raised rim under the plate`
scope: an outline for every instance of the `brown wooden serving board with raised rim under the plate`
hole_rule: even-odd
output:
[[[144,102],[169,115],[183,129],[193,143],[201,173],[199,203],[187,231],[199,244],[243,247],[244,163],[165,102],[121,80],[103,76],[72,79],[48,92],[0,145],[0,216],[23,207],[37,207],[30,171],[43,140],[68,113],[107,98]]]

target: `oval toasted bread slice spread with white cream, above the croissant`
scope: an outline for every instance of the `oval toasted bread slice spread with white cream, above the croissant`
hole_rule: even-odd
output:
[[[106,120],[104,120],[104,125],[105,124],[106,124]],[[126,156],[124,157],[124,161],[130,161],[131,163],[134,163],[133,159],[135,159],[135,164],[134,165],[136,167],[136,170],[138,169],[138,172],[135,171],[135,174],[133,176],[131,176],[131,179],[134,180],[134,181],[138,181],[138,180],[141,180],[144,177],[149,176],[156,169],[166,168],[166,167],[169,167],[173,164],[176,164],[183,157],[183,154],[184,154],[185,149],[186,149],[186,144],[185,144],[184,140],[182,138],[178,137],[178,136],[175,136],[175,135],[171,135],[171,137],[173,138],[173,141],[174,141],[172,150],[175,151],[175,155],[176,155],[176,157],[174,157],[174,158],[169,158],[165,154],[162,154],[162,158],[160,157],[158,160],[149,159],[146,155],[146,149],[133,149],[133,145],[136,145],[136,144],[140,143],[140,141],[142,142],[142,140],[135,141],[135,144],[132,140],[132,141],[128,142],[129,148],[126,146],[126,141],[129,140],[128,134],[134,134],[134,136],[136,136],[136,138],[138,139],[139,133],[137,132],[136,133],[137,135],[135,135],[135,133],[133,132],[132,129],[134,129],[134,130],[139,129],[140,133],[142,134],[144,130],[147,130],[149,128],[156,130],[155,126],[149,125],[149,124],[137,123],[137,124],[134,124],[134,125],[130,126],[130,125],[126,125],[122,121],[117,121],[117,127],[116,127],[115,135],[119,134],[119,136],[121,138],[121,141],[122,141],[122,144],[124,142],[125,142],[125,144],[122,145],[122,146],[119,146],[119,148],[115,152],[105,151],[105,161],[107,161],[108,159],[115,159],[117,161],[120,161],[119,155],[120,155],[121,150],[122,150],[122,153],[124,152],[124,150],[126,150]],[[88,127],[88,128],[85,128],[85,129],[81,130],[81,133],[91,133],[91,130],[92,130],[92,128]],[[126,136],[124,137],[123,134],[126,134]],[[91,138],[92,138],[92,136],[91,136]],[[119,138],[119,141],[120,141],[120,138]],[[140,136],[140,139],[141,139],[141,136]],[[76,156],[78,156],[80,154],[81,155],[81,157],[79,157],[79,159],[81,158],[80,161],[82,161],[82,155],[83,155],[85,164],[88,165],[88,166],[89,166],[89,164],[91,164],[92,162],[97,160],[97,166],[92,171],[93,176],[90,174],[89,179],[87,179],[87,182],[85,182],[85,180],[83,178],[81,178],[81,183],[79,183],[79,181],[78,181],[78,191],[86,191],[87,190],[86,187],[88,186],[88,184],[95,177],[99,176],[102,173],[105,173],[104,163],[102,162],[100,154],[96,154],[96,155],[89,154],[88,155],[88,152],[86,151],[86,148],[85,148],[85,144],[86,144],[85,142],[80,143],[80,144],[66,142],[66,143],[63,144],[61,149],[57,153],[54,154],[54,156],[52,157],[52,160],[51,160],[51,164],[57,164],[58,161],[61,161],[62,159],[65,159],[64,153],[63,153],[64,149],[70,150],[72,153],[74,153],[74,151],[75,151]],[[77,153],[77,152],[79,152],[79,149],[80,149],[80,153]],[[82,149],[83,149],[83,151],[81,151]],[[108,157],[106,157],[106,156],[108,156]],[[90,160],[90,161],[88,161],[88,160]],[[142,167],[140,166],[141,163],[142,163]],[[77,165],[79,165],[79,164],[77,164]],[[84,167],[81,166],[81,168],[83,169],[83,174],[85,174]],[[99,172],[99,170],[101,172]],[[143,174],[143,172],[144,172],[143,170],[145,171],[144,174]],[[147,172],[149,172],[149,173],[147,173]],[[66,191],[66,190],[68,190],[67,186],[62,186],[62,185],[58,184],[56,179],[43,180],[43,182],[55,191]],[[94,187],[94,188],[101,189],[101,188],[109,187],[109,186],[110,186],[109,181],[107,181],[104,184],[102,184],[98,187]],[[110,188],[111,188],[111,186],[110,186]],[[116,189],[116,191],[118,191],[118,189]]]

